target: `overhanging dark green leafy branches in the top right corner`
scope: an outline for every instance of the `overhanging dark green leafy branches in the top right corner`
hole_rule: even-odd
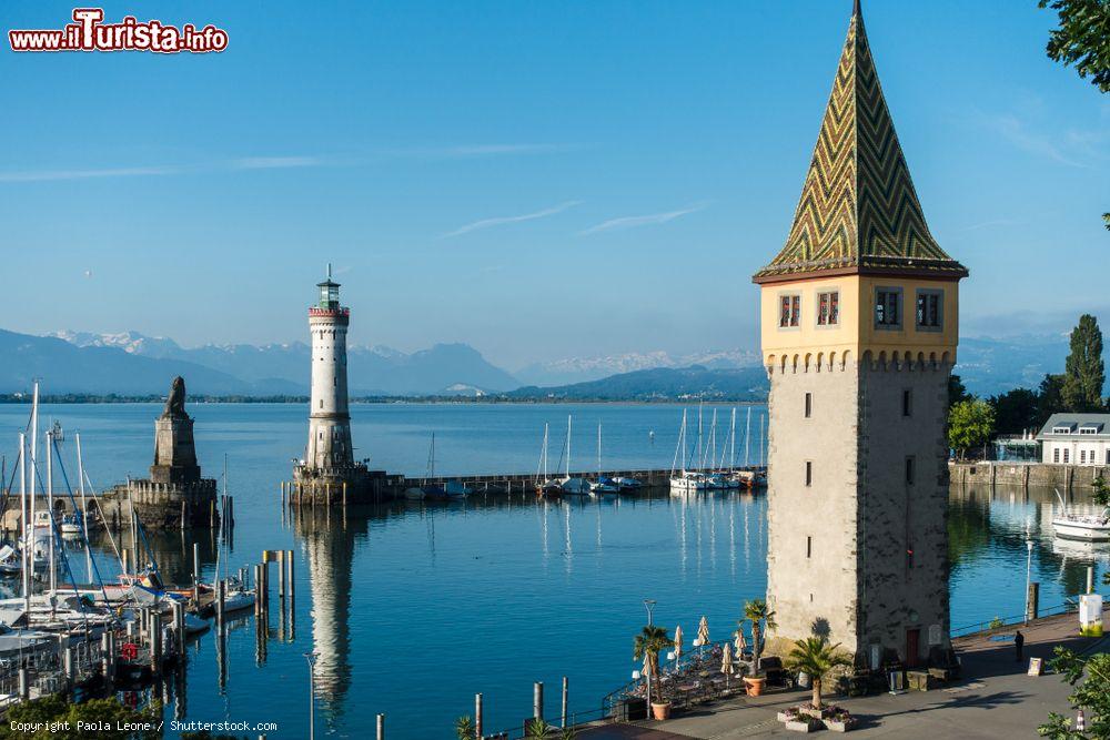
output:
[[[1040,0],[1057,12],[1060,27],[1048,38],[1049,59],[1076,65],[1079,77],[1110,92],[1110,2],[1107,0]]]

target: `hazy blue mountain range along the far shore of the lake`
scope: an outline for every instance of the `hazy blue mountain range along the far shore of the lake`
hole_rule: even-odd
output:
[[[991,395],[1036,387],[1063,369],[1066,335],[1006,339],[965,337],[956,372],[967,387]],[[677,399],[708,394],[735,399],[766,395],[759,354],[725,349],[556,358],[508,373],[466,344],[404,353],[349,348],[352,396],[482,396],[516,399]],[[200,395],[306,395],[311,352],[291,344],[182,347],[137,332],[58,332],[33,336],[0,330],[0,393],[23,392],[32,378],[51,394],[162,394],[174,375]]]

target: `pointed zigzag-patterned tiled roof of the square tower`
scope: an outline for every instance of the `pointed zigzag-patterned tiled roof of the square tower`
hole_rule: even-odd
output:
[[[826,271],[967,275],[925,222],[858,1],[790,235],[755,280]]]

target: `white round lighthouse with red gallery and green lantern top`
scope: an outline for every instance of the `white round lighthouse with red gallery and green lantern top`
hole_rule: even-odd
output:
[[[312,333],[312,410],[304,464],[316,470],[350,468],[351,415],[347,412],[346,331],[351,310],[340,305],[340,284],[327,278],[317,283],[320,302],[309,308]]]

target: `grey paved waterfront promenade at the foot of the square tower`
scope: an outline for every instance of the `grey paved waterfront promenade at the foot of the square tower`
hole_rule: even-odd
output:
[[[1058,645],[1081,652],[1110,650],[1110,637],[1080,638],[1077,631],[1074,614],[1050,617],[1023,628],[1026,660],[1021,662],[1017,661],[1009,639],[999,641],[982,635],[958,639],[955,643],[965,675],[960,681],[927,692],[828,699],[861,720],[852,733],[858,738],[1033,738],[1037,726],[1050,711],[1070,714],[1071,687],[1059,676],[1027,676],[1028,658],[1045,658],[1047,662]],[[1012,630],[1002,635],[1009,638]],[[775,714],[808,697],[808,691],[739,697],[696,708],[665,722],[605,724],[591,728],[581,737],[584,740],[795,737],[797,733],[788,732]]]

